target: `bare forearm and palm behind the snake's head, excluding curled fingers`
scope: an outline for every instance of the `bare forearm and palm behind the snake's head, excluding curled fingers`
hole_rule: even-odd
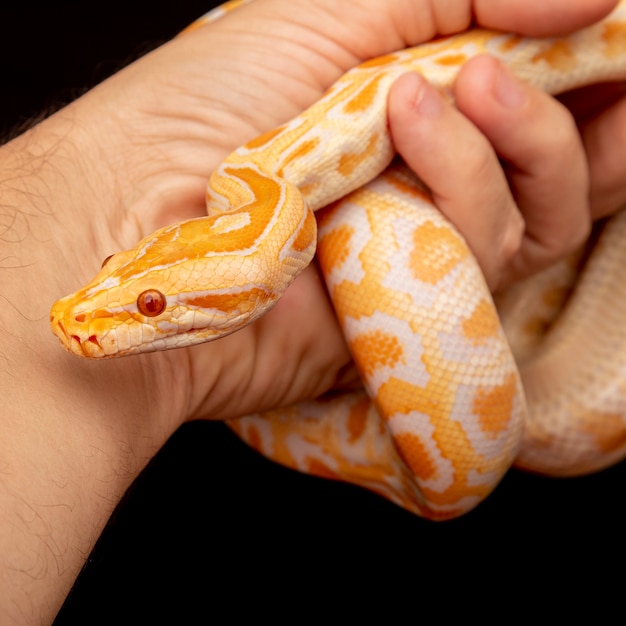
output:
[[[552,17],[545,0],[505,8],[462,2],[439,18],[433,11],[443,3],[380,4],[372,11],[363,0],[258,0],[171,42],[2,148],[2,206],[15,208],[2,258],[16,260],[4,268],[11,306],[0,310],[0,326],[10,329],[2,354],[5,478],[9,494],[38,503],[50,542],[71,546],[41,556],[51,561],[42,569],[61,575],[11,581],[28,592],[31,609],[46,605],[53,614],[113,506],[180,423],[318,395],[349,363],[313,269],[249,330],[115,362],[64,354],[49,333],[50,303],[111,252],[202,214],[206,178],[232,148],[299,113],[357,62],[462,30],[471,8],[487,25],[531,33],[539,27],[528,23],[533,5],[546,15],[535,24],[569,29],[611,2],[570,2]],[[3,505],[12,532],[2,554],[18,550],[14,578],[15,563],[39,545],[32,528],[11,518],[10,498]]]

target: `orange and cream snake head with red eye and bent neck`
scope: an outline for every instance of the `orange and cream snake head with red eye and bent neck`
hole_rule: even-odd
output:
[[[156,231],[54,303],[50,323],[65,348],[98,358],[190,346],[239,330],[278,301],[315,254],[315,217],[297,187],[231,169],[237,208]]]

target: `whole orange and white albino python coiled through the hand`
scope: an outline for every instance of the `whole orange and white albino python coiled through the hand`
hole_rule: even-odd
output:
[[[366,391],[232,421],[254,448],[430,519],[473,508],[513,463],[566,476],[622,459],[626,215],[606,223],[584,269],[568,266],[577,284],[563,311],[562,284],[509,297],[507,328],[518,310],[522,331],[550,326],[516,363],[464,240],[392,163],[391,84],[418,71],[448,92],[483,52],[550,93],[623,79],[626,0],[566,38],[473,30],[353,69],[213,172],[209,217],[149,235],[56,302],[52,330],[89,358],[217,339],[275,304],[317,245]]]

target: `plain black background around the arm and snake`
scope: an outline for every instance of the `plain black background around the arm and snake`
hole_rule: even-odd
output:
[[[3,132],[76,97],[210,6],[3,6]],[[345,615],[381,604],[421,619],[435,591],[445,614],[463,589],[473,593],[471,612],[490,613],[494,583],[509,581],[515,606],[537,596],[580,606],[592,597],[579,586],[601,581],[623,556],[625,481],[624,464],[570,480],[512,471],[476,511],[433,524],[265,461],[221,424],[189,424],[116,511],[57,624],[153,623],[171,611],[174,623],[299,622],[331,614],[333,602]]]

